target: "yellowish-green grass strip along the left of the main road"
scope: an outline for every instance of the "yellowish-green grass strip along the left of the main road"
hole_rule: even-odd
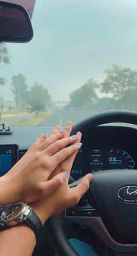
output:
[[[49,117],[49,115],[53,114],[53,110],[47,111],[42,114],[37,114],[35,117],[27,118],[27,120],[23,120],[21,122],[16,122],[14,125],[38,125],[42,120],[44,120],[46,117]]]

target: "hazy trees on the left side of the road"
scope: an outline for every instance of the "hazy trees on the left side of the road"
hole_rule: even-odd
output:
[[[0,44],[0,63],[1,62],[5,64],[10,63],[8,49],[3,43]],[[0,77],[0,85],[5,85],[5,83],[6,79]],[[33,86],[28,88],[26,77],[21,73],[12,77],[11,85],[17,111],[27,110],[28,112],[39,112],[48,110],[53,105],[51,95],[46,87],[35,82]]]

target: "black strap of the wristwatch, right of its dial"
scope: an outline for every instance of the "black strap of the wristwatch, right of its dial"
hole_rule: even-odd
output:
[[[26,218],[26,222],[35,233],[35,237],[37,240],[39,231],[42,228],[42,223],[41,220],[38,218],[37,214],[33,211],[33,209],[30,209],[30,212],[28,213]]]

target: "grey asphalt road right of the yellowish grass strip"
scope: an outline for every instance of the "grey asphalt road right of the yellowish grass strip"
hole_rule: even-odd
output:
[[[52,126],[59,124],[60,126],[63,126],[67,121],[72,121],[73,124],[75,124],[76,122],[82,120],[85,117],[88,117],[91,114],[93,114],[92,111],[60,110],[45,118],[45,120],[43,120],[40,125]]]

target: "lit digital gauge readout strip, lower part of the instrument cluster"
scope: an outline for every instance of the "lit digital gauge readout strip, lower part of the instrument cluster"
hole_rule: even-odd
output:
[[[86,159],[86,164],[80,161],[81,158]],[[134,169],[135,158],[127,151],[122,149],[91,149],[88,154],[87,152],[80,150],[77,154],[77,161],[71,175],[73,177],[84,176],[86,173],[93,173],[100,170],[118,170],[118,169]],[[88,171],[85,167],[88,166]],[[76,178],[77,178],[76,177]]]

